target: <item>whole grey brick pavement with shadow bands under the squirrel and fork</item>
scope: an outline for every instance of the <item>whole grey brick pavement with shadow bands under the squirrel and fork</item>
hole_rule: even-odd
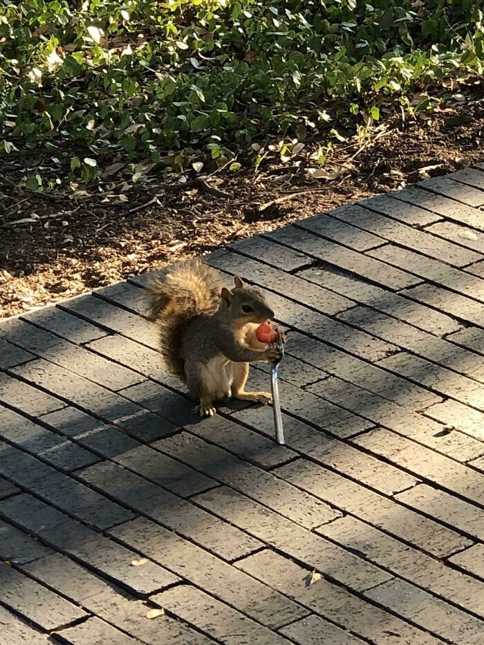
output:
[[[149,275],[0,323],[0,645],[481,645],[483,169],[205,258],[288,332],[286,446],[193,413]]]

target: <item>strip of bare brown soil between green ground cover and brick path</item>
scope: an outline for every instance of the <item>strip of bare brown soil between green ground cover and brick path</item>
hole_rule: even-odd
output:
[[[19,188],[21,177],[52,153],[14,153],[8,165],[0,162],[0,317],[447,174],[482,161],[483,140],[477,88],[472,99],[335,148],[324,166],[337,174],[330,180],[308,173],[317,147],[311,141],[295,160],[283,163],[267,149],[257,171],[225,168],[202,179],[191,171],[185,185],[149,173],[136,184],[107,176],[93,187],[38,194]]]

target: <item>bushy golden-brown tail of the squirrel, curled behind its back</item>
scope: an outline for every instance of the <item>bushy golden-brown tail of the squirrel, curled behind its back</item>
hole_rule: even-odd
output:
[[[214,313],[223,282],[215,269],[189,260],[154,278],[148,286],[149,318],[159,320],[161,353],[169,371],[185,380],[183,332],[194,317]]]

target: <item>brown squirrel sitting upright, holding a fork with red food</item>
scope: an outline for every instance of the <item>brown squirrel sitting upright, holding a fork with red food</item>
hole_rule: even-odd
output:
[[[274,317],[261,292],[234,277],[232,290],[199,260],[182,263],[148,286],[149,318],[160,323],[160,350],[169,371],[199,404],[201,417],[216,413],[214,401],[232,396],[263,404],[268,392],[246,392],[252,361],[277,361],[281,353],[257,340],[259,324]]]

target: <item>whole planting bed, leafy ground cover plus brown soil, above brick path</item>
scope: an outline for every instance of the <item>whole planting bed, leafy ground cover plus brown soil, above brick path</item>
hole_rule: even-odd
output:
[[[3,315],[473,160],[483,70],[482,0],[0,0]]]

